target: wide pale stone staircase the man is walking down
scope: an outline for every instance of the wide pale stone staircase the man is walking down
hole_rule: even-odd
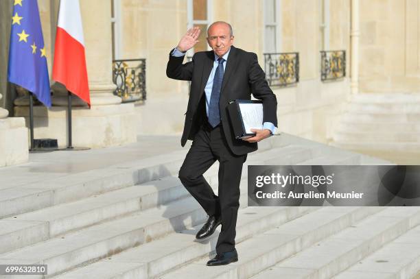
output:
[[[385,278],[369,265],[378,257],[392,278],[420,269],[420,208],[246,206],[246,165],[389,164],[288,134],[263,141],[243,168],[239,261],[206,267],[220,228],[195,241],[207,216],[177,178],[186,151],[0,191],[0,264],[46,264],[45,278],[78,279],[353,278],[365,269]],[[205,173],[216,193],[217,171]]]

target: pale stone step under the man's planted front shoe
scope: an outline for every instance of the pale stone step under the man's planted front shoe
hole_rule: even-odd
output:
[[[324,207],[239,243],[236,263],[205,267],[213,257],[210,255],[159,278],[249,278],[380,210],[378,207]]]

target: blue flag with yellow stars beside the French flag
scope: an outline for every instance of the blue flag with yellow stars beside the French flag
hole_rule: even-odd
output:
[[[8,81],[29,90],[51,107],[47,57],[36,0],[14,0]]]

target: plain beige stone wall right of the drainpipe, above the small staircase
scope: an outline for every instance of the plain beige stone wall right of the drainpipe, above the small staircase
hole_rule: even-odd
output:
[[[360,92],[419,92],[420,1],[363,1]]]

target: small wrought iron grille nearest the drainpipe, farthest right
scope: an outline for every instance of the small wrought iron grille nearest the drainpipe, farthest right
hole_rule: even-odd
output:
[[[346,76],[346,51],[320,51],[321,80],[338,80]]]

